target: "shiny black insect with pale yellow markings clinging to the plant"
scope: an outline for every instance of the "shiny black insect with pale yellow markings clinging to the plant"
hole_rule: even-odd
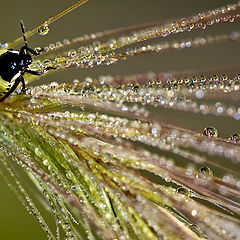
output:
[[[30,53],[39,55],[41,51],[35,51],[27,46],[23,21],[20,21],[20,26],[25,46],[21,47],[20,51],[8,49],[6,53],[0,56],[0,96],[2,96],[0,102],[6,99],[17,88],[20,82],[22,83],[21,92],[25,92],[24,73],[41,75],[50,69],[54,69],[48,67],[42,72],[35,72],[28,68],[32,63]]]

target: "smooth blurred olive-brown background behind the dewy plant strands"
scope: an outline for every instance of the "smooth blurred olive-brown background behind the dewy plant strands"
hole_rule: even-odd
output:
[[[19,20],[24,20],[26,29],[35,26],[54,16],[63,9],[74,4],[72,0],[12,0],[1,1],[0,15],[0,42],[10,42],[20,36]],[[80,8],[59,19],[49,26],[50,31],[45,36],[36,34],[29,39],[29,46],[46,46],[50,43],[62,41],[65,38],[72,39],[84,34],[99,32],[107,29],[124,27],[157,20],[182,18],[193,14],[220,7],[237,1],[211,0],[89,0]],[[167,39],[186,39],[197,36],[206,36],[216,33],[230,33],[239,29],[238,21],[234,23],[222,23],[206,30],[195,30],[191,33],[173,35]],[[166,39],[165,39],[166,40]],[[159,39],[159,42],[161,39]],[[78,46],[73,46],[77,48]],[[83,80],[85,77],[98,77],[100,75],[127,75],[153,72],[205,71],[239,66],[240,44],[238,42],[218,44],[210,47],[184,49],[183,51],[168,51],[160,54],[146,54],[119,62],[111,66],[99,66],[93,69],[71,69],[48,75],[42,81],[66,82],[74,79]],[[216,117],[190,118],[183,120],[185,124],[198,131],[204,126],[216,120]],[[186,118],[185,118],[186,119]],[[179,120],[181,121],[181,120]],[[199,121],[196,126],[196,121]],[[191,125],[192,123],[192,125]],[[224,120],[218,123],[217,128],[224,125]],[[239,129],[236,121],[230,121],[228,128],[223,130],[226,136]],[[224,132],[225,131],[225,132]],[[39,224],[27,213],[14,194],[8,189],[0,178],[0,231],[1,239],[46,239],[45,233]]]

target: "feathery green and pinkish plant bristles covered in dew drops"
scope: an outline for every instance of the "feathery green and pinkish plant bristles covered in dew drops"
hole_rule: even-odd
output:
[[[239,32],[180,38],[239,20],[239,12],[234,3],[58,41],[30,67],[54,74],[239,41]],[[53,19],[27,37],[46,34]],[[49,239],[240,239],[240,77],[227,71],[99,76],[14,93],[0,104],[1,175]],[[174,124],[174,112],[216,115],[238,129],[229,138],[214,126],[196,132]],[[56,229],[35,201],[48,206]]]

